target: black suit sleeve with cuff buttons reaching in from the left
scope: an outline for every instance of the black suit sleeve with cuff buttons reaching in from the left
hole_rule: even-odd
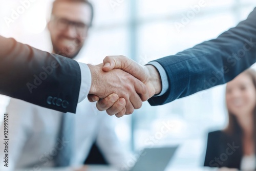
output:
[[[76,61],[0,36],[0,94],[75,113],[80,84]]]

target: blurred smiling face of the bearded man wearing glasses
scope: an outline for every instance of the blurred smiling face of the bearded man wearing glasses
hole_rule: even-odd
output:
[[[53,52],[74,58],[87,38],[90,22],[91,8],[86,3],[57,3],[48,23]]]

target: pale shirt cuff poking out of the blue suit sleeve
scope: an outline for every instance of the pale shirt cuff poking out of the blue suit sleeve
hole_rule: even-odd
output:
[[[158,72],[160,74],[160,77],[161,77],[161,80],[162,80],[162,91],[160,92],[160,94],[155,95],[154,97],[162,96],[164,93],[167,92],[167,90],[169,88],[167,74],[166,74],[164,68],[157,61],[149,62],[149,63],[147,63],[147,65],[152,65],[152,66],[156,67],[156,69],[158,70]]]

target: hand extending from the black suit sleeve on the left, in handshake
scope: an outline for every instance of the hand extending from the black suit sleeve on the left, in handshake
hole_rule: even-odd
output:
[[[93,95],[92,98],[96,97],[97,100],[103,98],[97,103],[98,110],[104,111],[106,105],[111,103],[113,106],[112,108],[108,106],[108,109],[110,108],[107,111],[108,114],[121,117],[124,114],[132,114],[134,109],[141,108],[142,101],[149,98],[145,84],[131,74],[120,69],[104,72],[102,70],[103,63],[97,66],[88,66],[92,74],[92,86],[89,94]]]

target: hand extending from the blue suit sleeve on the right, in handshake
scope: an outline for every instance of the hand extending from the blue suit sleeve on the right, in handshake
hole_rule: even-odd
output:
[[[113,69],[121,69],[142,81],[147,87],[148,98],[159,94],[162,90],[161,77],[157,69],[152,65],[142,66],[125,56],[106,56],[103,63],[104,67],[102,70],[105,72],[110,72]],[[124,105],[120,104],[120,99],[118,98],[115,102],[109,100],[113,96],[117,97],[116,94],[111,94],[105,99],[99,99],[97,96],[89,95],[88,99],[90,101],[98,101],[98,109],[106,110],[108,113],[120,113],[121,110],[124,110]],[[117,116],[121,117],[122,115]]]

